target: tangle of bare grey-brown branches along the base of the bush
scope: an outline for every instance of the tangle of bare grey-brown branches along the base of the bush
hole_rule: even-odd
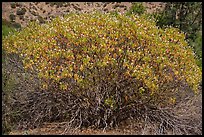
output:
[[[120,93],[118,90],[115,95]],[[169,132],[201,134],[202,132],[202,121],[199,120],[202,117],[199,96],[183,97],[182,101],[173,107],[162,108],[139,99],[128,103],[118,101],[116,104],[124,104],[114,108],[103,101],[108,94],[110,91],[104,90],[98,91],[97,95],[76,95],[72,92],[50,92],[50,90],[27,92],[22,94],[26,98],[24,101],[15,100],[12,112],[18,112],[17,129],[41,127],[44,122],[59,122],[64,123],[66,134],[72,128],[81,129],[89,126],[95,129],[116,128],[124,121],[132,119],[138,123],[144,121],[145,125],[155,130],[154,134],[169,134]],[[196,100],[198,103],[192,103]],[[157,128],[155,129],[153,125]]]

